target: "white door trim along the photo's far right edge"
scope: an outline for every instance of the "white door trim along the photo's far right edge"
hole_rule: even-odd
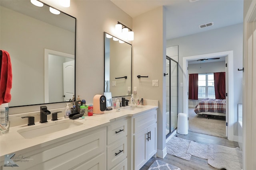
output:
[[[243,76],[243,169],[251,170],[256,168],[256,137],[254,135],[255,109],[256,109],[256,84],[255,76],[255,27],[256,27],[256,1],[250,2],[250,6],[244,17],[244,76]]]

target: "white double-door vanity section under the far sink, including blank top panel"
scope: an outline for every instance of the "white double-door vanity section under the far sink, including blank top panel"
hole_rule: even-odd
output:
[[[134,170],[139,170],[156,154],[156,110],[133,118]]]

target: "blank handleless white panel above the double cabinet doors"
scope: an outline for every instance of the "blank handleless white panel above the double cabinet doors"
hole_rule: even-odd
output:
[[[157,120],[157,111],[156,110],[152,110],[149,111],[148,113],[135,117],[133,119],[133,133],[137,133],[145,128],[147,128],[148,126],[156,123]]]

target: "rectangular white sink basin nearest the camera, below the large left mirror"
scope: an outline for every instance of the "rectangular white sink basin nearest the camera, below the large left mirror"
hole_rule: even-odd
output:
[[[63,121],[42,123],[42,125],[27,127],[24,129],[20,129],[17,132],[20,133],[20,135],[22,135],[25,139],[31,139],[34,137],[39,137],[49,133],[54,133],[57,131],[62,131],[64,129],[76,127],[82,124],[83,123],[81,122],[67,119]]]

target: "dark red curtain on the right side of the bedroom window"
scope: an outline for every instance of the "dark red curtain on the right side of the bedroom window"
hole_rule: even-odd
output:
[[[216,99],[226,99],[226,73],[214,72],[214,88]]]

